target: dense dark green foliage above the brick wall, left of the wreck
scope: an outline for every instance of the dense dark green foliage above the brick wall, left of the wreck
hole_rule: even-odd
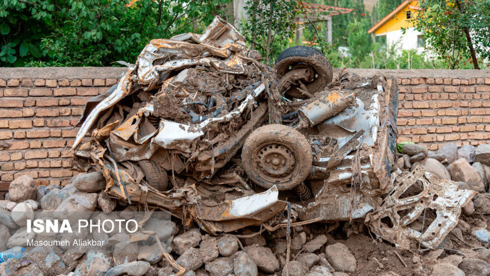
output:
[[[6,0],[0,66],[133,62],[153,38],[201,31],[230,0]]]

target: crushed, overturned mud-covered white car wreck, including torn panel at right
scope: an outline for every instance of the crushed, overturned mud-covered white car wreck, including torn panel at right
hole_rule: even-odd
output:
[[[210,234],[365,219],[398,246],[436,248],[474,192],[394,169],[396,80],[332,82],[329,61],[308,47],[285,50],[274,69],[245,44],[219,17],[201,35],[152,40],[87,103],[74,169],[101,172],[110,197]],[[427,227],[411,227],[422,219]]]

